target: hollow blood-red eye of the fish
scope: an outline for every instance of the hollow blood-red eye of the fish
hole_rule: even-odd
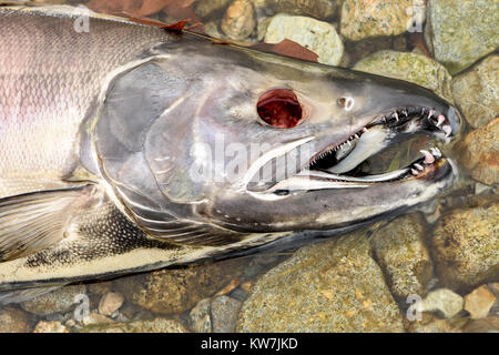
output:
[[[256,106],[258,115],[266,123],[291,129],[303,119],[303,110],[298,98],[289,89],[274,89],[265,92]]]

